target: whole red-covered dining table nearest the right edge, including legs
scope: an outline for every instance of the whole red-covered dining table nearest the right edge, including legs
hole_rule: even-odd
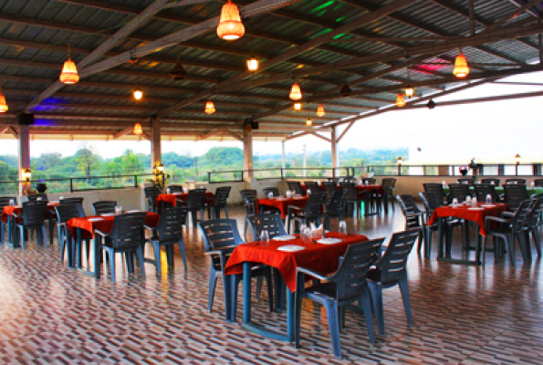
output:
[[[481,247],[483,245],[483,237],[486,237],[485,218],[487,216],[500,217],[502,213],[507,212],[509,207],[506,203],[459,203],[439,206],[433,210],[433,214],[428,221],[428,225],[438,224],[438,261],[446,261],[453,264],[466,264],[466,265],[481,265]],[[469,259],[454,259],[445,255],[443,229],[444,220],[448,217],[460,218],[465,221],[474,222],[478,225],[479,231],[477,235],[477,246],[475,247],[475,260]],[[468,229],[466,224],[465,229]],[[469,231],[465,233],[466,238],[469,238]],[[466,239],[467,241],[467,239]],[[466,242],[467,249],[469,249],[469,242]]]

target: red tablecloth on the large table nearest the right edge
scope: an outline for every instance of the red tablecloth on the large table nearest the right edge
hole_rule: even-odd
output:
[[[486,205],[486,203],[477,203],[477,205],[483,207],[482,205]],[[479,234],[486,236],[485,217],[499,217],[503,212],[509,210],[506,203],[494,203],[493,205],[495,206],[483,207],[484,210],[471,210],[469,209],[470,206],[465,206],[464,204],[459,204],[456,208],[453,208],[451,205],[440,206],[435,208],[428,224],[436,223],[438,218],[462,218],[479,224]]]

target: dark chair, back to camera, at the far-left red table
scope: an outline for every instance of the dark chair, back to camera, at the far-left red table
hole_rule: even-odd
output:
[[[13,217],[20,222],[16,223],[16,242],[21,240],[21,247],[25,249],[25,231],[27,229],[37,231],[37,243],[43,245],[44,240],[47,247],[46,230],[47,201],[33,201],[23,203],[21,215],[13,214]]]

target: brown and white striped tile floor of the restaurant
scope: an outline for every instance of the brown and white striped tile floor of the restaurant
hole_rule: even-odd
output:
[[[231,212],[241,224],[242,211]],[[370,237],[403,227],[402,214],[375,216],[350,228]],[[475,230],[472,230],[475,231]],[[459,237],[457,237],[459,239]],[[35,242],[26,251],[0,248],[0,363],[541,363],[543,287],[540,261],[517,268],[507,261],[457,266],[409,261],[414,325],[409,328],[399,290],[384,293],[386,335],[368,342],[364,321],[347,315],[343,360],[332,355],[322,308],[304,303],[302,349],[226,323],[219,280],[214,312],[207,303],[208,259],[196,230],[185,235],[189,268],[176,251],[175,269],[162,276],[146,265],[118,282],[97,281],[58,263],[57,245]],[[435,253],[435,245],[433,253]],[[459,251],[456,251],[459,253]],[[147,256],[151,257],[151,247]],[[120,260],[120,258],[118,258]],[[263,291],[264,292],[264,291]],[[241,320],[241,300],[238,321]],[[256,321],[285,329],[283,313],[255,302]]]

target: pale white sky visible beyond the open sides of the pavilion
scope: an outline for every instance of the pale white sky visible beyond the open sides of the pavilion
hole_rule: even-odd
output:
[[[486,84],[473,89],[436,98],[433,110],[397,110],[357,121],[339,142],[339,151],[350,148],[374,150],[381,148],[409,148],[412,162],[451,162],[477,160],[506,162],[517,153],[527,159],[542,159],[541,147],[541,98],[513,99],[459,106],[440,107],[445,100],[483,98],[539,91],[543,87],[543,72],[503,78],[501,81],[539,82],[541,86]],[[344,127],[339,127],[339,132]],[[329,133],[324,133],[329,136]],[[14,151],[16,141],[2,141],[2,152]],[[86,141],[102,157],[120,156],[126,149],[150,153],[149,141]],[[30,154],[60,152],[73,155],[81,141],[32,141]],[[286,151],[301,153],[326,151],[329,143],[316,137],[300,137],[286,142]],[[162,141],[162,153],[174,151],[200,156],[216,146],[239,147],[239,141]],[[280,154],[280,141],[256,141],[254,153]],[[418,151],[420,149],[421,151]]]

